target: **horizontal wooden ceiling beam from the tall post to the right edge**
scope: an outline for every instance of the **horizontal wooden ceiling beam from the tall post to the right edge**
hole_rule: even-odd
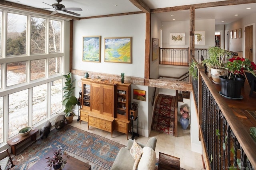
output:
[[[168,8],[157,8],[157,9],[152,9],[151,13],[189,10],[190,6],[193,6],[195,9],[198,9],[198,8],[209,8],[209,7],[217,7],[217,6],[229,6],[229,5],[240,5],[240,4],[252,4],[252,3],[256,3],[256,1],[255,0],[225,0],[225,1],[218,1],[218,2],[207,2],[202,4],[191,4],[191,5],[174,6],[174,7],[168,7]]]

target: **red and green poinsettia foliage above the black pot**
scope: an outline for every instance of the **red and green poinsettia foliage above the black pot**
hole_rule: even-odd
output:
[[[249,59],[244,59],[240,57],[229,59],[226,63],[226,68],[228,68],[227,78],[229,80],[235,80],[236,76],[239,78],[245,78],[244,70],[250,71],[254,76],[253,70],[256,70],[256,64],[251,62]]]

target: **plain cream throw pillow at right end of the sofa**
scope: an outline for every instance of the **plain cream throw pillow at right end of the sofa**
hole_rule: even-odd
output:
[[[156,152],[150,147],[143,148],[143,154],[138,164],[138,170],[154,170],[156,166]]]

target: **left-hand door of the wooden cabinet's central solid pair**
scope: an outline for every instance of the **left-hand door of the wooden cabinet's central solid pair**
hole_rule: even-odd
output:
[[[100,84],[91,84],[91,111],[100,113],[102,108]]]

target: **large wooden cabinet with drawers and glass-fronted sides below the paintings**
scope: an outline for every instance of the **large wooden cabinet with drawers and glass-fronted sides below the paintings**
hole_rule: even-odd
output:
[[[129,110],[131,107],[131,84],[121,82],[102,82],[82,78],[81,121],[89,126],[111,133],[116,130],[126,134],[131,128]]]

